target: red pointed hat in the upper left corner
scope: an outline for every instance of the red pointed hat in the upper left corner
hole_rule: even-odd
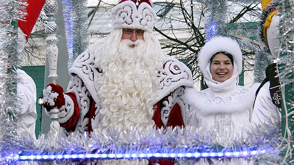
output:
[[[25,21],[18,21],[18,26],[26,34],[26,41],[35,26],[35,23],[40,15],[40,12],[45,4],[46,0],[27,0],[28,6],[26,7]]]

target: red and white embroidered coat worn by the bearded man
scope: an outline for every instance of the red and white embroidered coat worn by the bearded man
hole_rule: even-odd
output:
[[[164,54],[159,71],[156,104],[153,106],[156,127],[179,126],[186,123],[188,106],[179,97],[185,87],[193,85],[192,74],[186,65]],[[65,93],[65,105],[59,110],[59,123],[66,131],[91,132],[98,127],[101,101],[97,97],[96,81],[103,72],[94,64],[91,50],[79,55],[69,73],[71,80]]]

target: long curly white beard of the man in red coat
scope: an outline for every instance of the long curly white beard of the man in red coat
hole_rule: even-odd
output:
[[[135,44],[135,48],[129,46]],[[98,81],[101,127],[149,127],[154,125],[153,104],[159,80],[156,69],[162,65],[156,53],[146,53],[143,40],[121,40],[117,53],[105,55],[103,77]],[[154,56],[154,57],[153,57]],[[151,60],[151,61],[150,61]]]

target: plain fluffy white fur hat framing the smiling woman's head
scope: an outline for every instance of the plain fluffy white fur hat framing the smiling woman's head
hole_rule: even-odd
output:
[[[204,73],[210,58],[217,52],[227,52],[233,55],[234,64],[236,63],[238,68],[238,75],[242,72],[242,51],[239,44],[228,37],[214,37],[208,41],[200,50],[198,55],[199,67]]]

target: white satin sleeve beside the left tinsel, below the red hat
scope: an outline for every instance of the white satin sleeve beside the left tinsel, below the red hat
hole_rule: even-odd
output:
[[[36,84],[23,70],[18,69],[17,75],[20,78],[19,83],[17,83],[17,98],[21,105],[18,113],[18,123],[21,126],[20,133],[28,133],[33,139],[36,139]]]

